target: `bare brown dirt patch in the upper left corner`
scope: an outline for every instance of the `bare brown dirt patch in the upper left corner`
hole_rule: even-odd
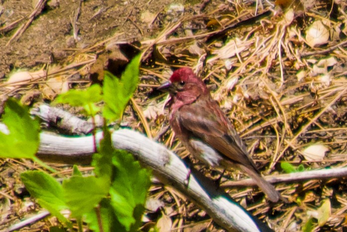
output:
[[[5,0],[1,5],[0,77],[12,70],[62,61],[72,51],[87,48],[115,33],[123,33],[117,39],[124,41],[147,38],[158,28],[154,25],[149,29],[141,20],[141,13],[158,14],[171,1],[49,0],[24,33],[11,40],[18,27],[28,21],[27,16],[37,2]],[[7,26],[21,18],[9,30],[11,27]]]

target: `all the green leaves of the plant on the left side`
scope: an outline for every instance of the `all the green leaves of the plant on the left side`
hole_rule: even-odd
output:
[[[139,62],[140,56],[137,56],[120,79],[106,72],[104,95],[99,85],[92,85],[85,90],[70,90],[58,96],[55,103],[84,106],[88,114],[95,115],[98,111],[95,103],[104,100],[104,116],[110,120],[119,119],[136,89]],[[0,138],[5,141],[0,144],[1,155],[39,161],[34,156],[39,145],[39,124],[30,119],[27,109],[10,99],[6,103],[3,121],[9,134],[0,133]],[[95,175],[84,177],[74,166],[72,177],[64,180],[62,185],[40,171],[23,172],[21,179],[41,207],[69,227],[70,221],[60,213],[63,209],[69,209],[79,223],[85,219],[90,229],[96,232],[100,231],[100,226],[105,232],[137,231],[150,186],[150,172],[141,168],[131,154],[113,148],[106,126],[104,139],[100,141],[99,152],[93,155],[92,165]],[[61,231],[60,228],[52,230]]]

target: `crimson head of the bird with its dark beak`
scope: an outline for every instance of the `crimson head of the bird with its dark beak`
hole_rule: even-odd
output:
[[[205,83],[197,77],[190,68],[180,68],[173,72],[170,79],[160,85],[157,89],[169,91],[176,95],[180,92],[191,92],[201,94],[209,92]]]

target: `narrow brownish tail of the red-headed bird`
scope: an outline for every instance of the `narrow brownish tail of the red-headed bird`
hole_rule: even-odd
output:
[[[258,187],[267,195],[267,198],[272,202],[278,202],[282,197],[279,192],[269,182],[267,182],[260,174],[253,168],[246,167],[242,164],[238,164],[238,167],[245,173],[247,173],[258,185]]]

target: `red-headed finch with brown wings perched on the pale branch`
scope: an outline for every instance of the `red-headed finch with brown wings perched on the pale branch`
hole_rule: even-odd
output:
[[[192,69],[177,69],[157,89],[169,92],[169,124],[193,157],[212,168],[238,168],[255,181],[268,200],[281,199],[274,186],[261,176],[231,121]]]

